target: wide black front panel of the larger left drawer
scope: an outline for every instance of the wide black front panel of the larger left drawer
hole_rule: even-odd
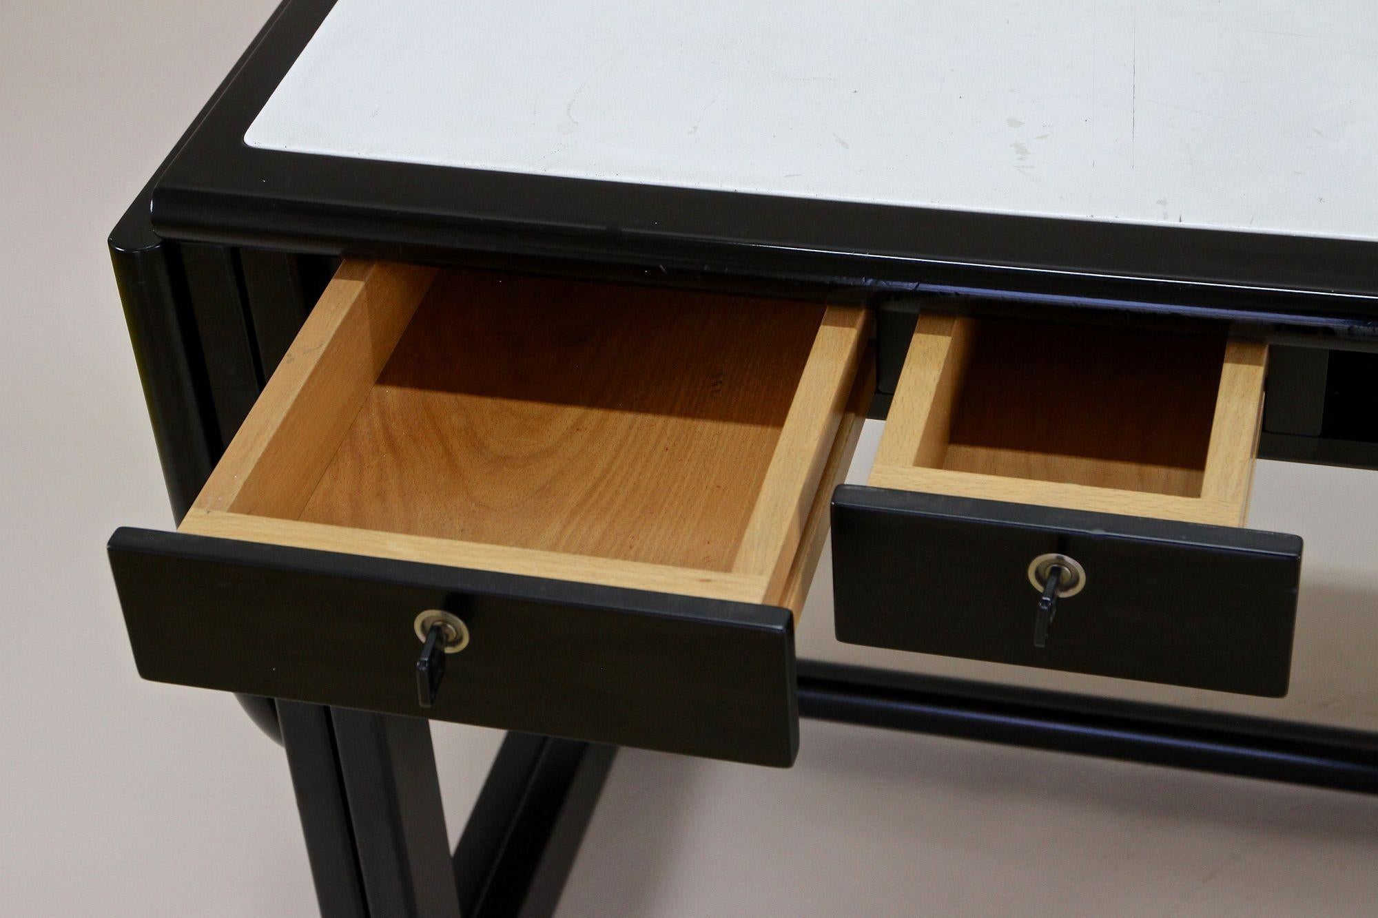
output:
[[[762,765],[798,750],[785,609],[143,529],[109,553],[147,680]],[[424,609],[471,635],[430,708]]]

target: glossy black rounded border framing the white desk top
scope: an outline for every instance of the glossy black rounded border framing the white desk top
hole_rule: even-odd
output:
[[[161,178],[160,232],[413,261],[475,254],[867,289],[1003,291],[1378,336],[1372,243],[457,170],[249,147],[332,0],[289,0]]]

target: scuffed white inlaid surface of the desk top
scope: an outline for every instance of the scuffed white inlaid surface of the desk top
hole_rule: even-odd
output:
[[[1370,0],[339,0],[258,147],[1378,240]]]

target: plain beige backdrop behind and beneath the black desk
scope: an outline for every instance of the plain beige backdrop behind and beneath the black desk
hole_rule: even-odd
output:
[[[0,0],[3,914],[314,910],[280,750],[227,696],[138,681],[102,554],[116,525],[171,522],[105,233],[273,6]],[[1375,484],[1259,470],[1255,525],[1308,539],[1280,713],[1378,726]],[[994,673],[839,648],[823,576],[806,652]],[[435,731],[452,833],[497,739]],[[623,753],[564,904],[1357,915],[1375,855],[1360,797],[806,722],[790,772]]]

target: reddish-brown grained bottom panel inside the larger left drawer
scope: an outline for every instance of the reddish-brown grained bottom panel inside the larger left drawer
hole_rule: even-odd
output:
[[[823,312],[449,272],[299,516],[730,571]]]

